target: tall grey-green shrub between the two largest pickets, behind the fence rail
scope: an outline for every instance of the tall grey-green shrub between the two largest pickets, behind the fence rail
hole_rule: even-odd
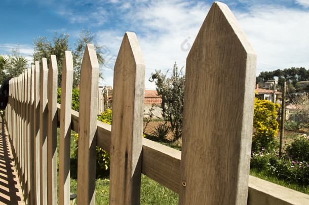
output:
[[[182,68],[178,71],[176,62],[172,76],[167,77],[167,73],[163,74],[161,70],[156,70],[156,73],[151,74],[149,81],[156,83],[158,95],[162,99],[163,118],[170,122],[174,140],[178,140],[182,136],[185,76],[182,74]]]

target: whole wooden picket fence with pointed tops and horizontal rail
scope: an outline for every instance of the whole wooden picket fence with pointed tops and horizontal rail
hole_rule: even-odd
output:
[[[71,110],[73,64],[65,52],[61,107],[57,61],[10,80],[5,111],[28,204],[69,204],[70,130],[79,133],[78,204],[95,204],[96,146],[111,154],[110,204],[139,204],[141,173],[179,204],[305,204],[306,194],[249,176],[256,54],[228,7],[214,3],[186,62],[182,151],[143,139],[145,63],[127,32],[114,67],[112,126],[97,121],[99,65],[87,45],[80,112]],[[112,132],[111,132],[112,131]]]

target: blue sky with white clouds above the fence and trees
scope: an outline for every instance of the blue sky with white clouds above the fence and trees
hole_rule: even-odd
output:
[[[309,0],[221,1],[234,13],[257,52],[257,75],[289,67],[309,69]],[[33,38],[54,31],[68,33],[70,45],[79,32],[90,29],[104,46],[105,80],[112,86],[113,63],[126,31],[135,32],[146,63],[146,89],[155,69],[171,69],[176,61],[185,66],[189,47],[213,1],[88,1],[3,0],[0,54],[20,52],[31,60]]]

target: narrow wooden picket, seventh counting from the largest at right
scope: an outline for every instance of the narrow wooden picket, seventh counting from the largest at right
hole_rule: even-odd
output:
[[[34,183],[35,183],[35,201],[41,203],[40,199],[40,62],[35,61],[34,67]]]

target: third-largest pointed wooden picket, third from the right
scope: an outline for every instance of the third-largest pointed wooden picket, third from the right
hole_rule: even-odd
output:
[[[95,204],[95,167],[99,63],[93,45],[87,44],[81,67],[78,150],[78,204]]]

